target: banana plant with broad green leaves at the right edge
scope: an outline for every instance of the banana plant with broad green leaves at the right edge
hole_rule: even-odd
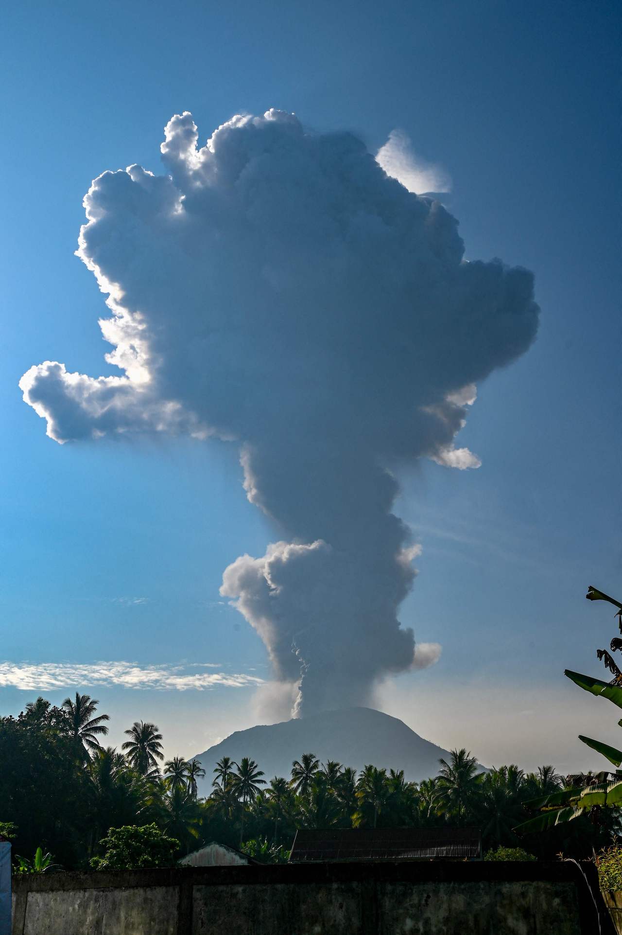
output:
[[[615,616],[618,619],[618,628],[622,634],[622,604],[615,597],[609,597],[599,591],[598,588],[590,584],[587,588],[587,600],[605,600],[613,604],[617,611]],[[622,649],[622,639],[615,637],[610,644],[612,653]],[[573,672],[566,669],[564,675],[569,678],[579,688],[590,692],[592,695],[599,695],[601,698],[607,698],[618,707],[622,708],[622,671],[615,664],[614,657],[605,649],[596,651],[599,659],[604,663],[605,669],[613,674],[611,682],[603,682],[601,679],[594,679],[589,675],[582,675],[580,672]],[[622,726],[622,718],[617,722]],[[615,767],[622,765],[622,751],[609,746],[608,743],[595,741],[591,737],[584,737],[579,734],[579,740],[586,743],[592,750],[605,756]],[[611,777],[611,779],[610,779]],[[563,822],[578,818],[583,813],[590,813],[593,818],[598,817],[601,808],[612,808],[622,805],[622,771],[603,770],[595,775],[579,775],[569,777],[572,781],[569,788],[553,792],[548,796],[532,798],[525,802],[525,806],[537,811],[539,814],[530,818],[529,821],[518,825],[514,830],[519,833],[528,833],[530,831],[545,831],[550,827],[555,827]]]

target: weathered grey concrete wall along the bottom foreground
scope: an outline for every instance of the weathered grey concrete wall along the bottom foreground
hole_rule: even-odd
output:
[[[594,884],[592,865],[583,870]],[[602,935],[609,935],[609,924],[603,912]],[[97,871],[18,878],[13,888],[13,935],[594,935],[598,931],[586,879],[572,863]]]

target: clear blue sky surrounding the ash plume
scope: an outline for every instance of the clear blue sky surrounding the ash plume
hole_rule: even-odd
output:
[[[615,621],[584,595],[621,589],[615,5],[26,2],[5,24],[0,661],[267,678],[261,640],[219,597],[223,568],[274,539],[233,446],[61,447],[17,383],[46,359],[115,372],[103,296],[74,256],[82,197],[106,168],[162,172],[174,113],[191,109],[205,140],[234,113],[283,108],[374,152],[400,128],[450,174],[467,256],[534,271],[542,320],[460,435],[482,468],[403,470],[398,511],[423,553],[401,619],[443,654],[378,704],[483,762],[597,766],[575,737],[616,741],[614,712],[562,670],[601,674]],[[87,690],[112,741],[156,720],[171,754],[258,716],[252,682]],[[0,687],[0,712],[38,693]]]

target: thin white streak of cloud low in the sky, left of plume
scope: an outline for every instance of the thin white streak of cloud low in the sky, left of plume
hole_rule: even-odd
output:
[[[0,662],[0,687],[45,691],[73,686],[120,685],[122,688],[205,691],[219,686],[245,688],[263,679],[246,673],[191,672],[215,663],[183,666],[139,666],[135,662]]]

